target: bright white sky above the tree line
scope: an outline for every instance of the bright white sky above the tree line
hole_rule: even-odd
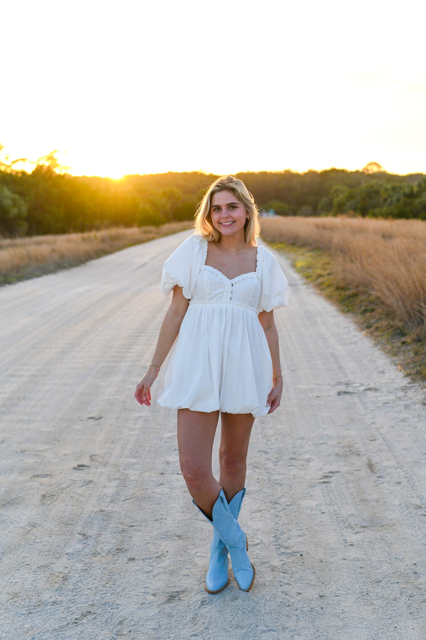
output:
[[[426,3],[0,3],[0,143],[75,175],[426,173]]]

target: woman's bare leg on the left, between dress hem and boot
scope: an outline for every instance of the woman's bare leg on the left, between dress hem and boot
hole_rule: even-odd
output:
[[[211,472],[211,454],[219,412],[178,409],[178,447],[181,472],[188,491],[211,520],[220,485]]]

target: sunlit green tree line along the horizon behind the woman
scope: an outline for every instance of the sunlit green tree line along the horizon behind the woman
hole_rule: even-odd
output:
[[[1,147],[0,147],[1,150]],[[73,176],[55,154],[32,172],[0,163],[0,234],[24,236],[190,220],[215,175],[199,172]],[[264,210],[278,215],[349,214],[426,220],[426,176],[393,175],[376,163],[361,171],[238,173]]]

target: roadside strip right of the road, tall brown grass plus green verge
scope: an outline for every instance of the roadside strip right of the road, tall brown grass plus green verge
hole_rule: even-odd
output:
[[[262,238],[349,312],[413,380],[426,381],[426,223],[262,218]]]

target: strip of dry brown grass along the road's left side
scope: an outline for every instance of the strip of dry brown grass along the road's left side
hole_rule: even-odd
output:
[[[0,284],[77,266],[191,225],[190,221],[171,222],[161,227],[120,227],[83,234],[0,239]]]

